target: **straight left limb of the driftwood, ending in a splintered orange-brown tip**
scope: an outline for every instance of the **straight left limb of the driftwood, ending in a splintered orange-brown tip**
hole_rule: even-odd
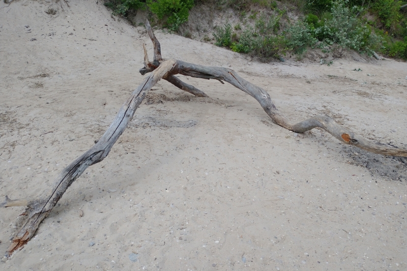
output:
[[[8,249],[8,253],[11,254],[16,249],[24,246],[34,235],[41,221],[48,216],[56,202],[60,200],[74,180],[78,178],[86,168],[99,163],[109,154],[111,147],[126,129],[137,107],[140,105],[144,97],[146,97],[147,92],[161,78],[166,78],[176,67],[176,64],[177,62],[173,60],[165,61],[161,63],[160,67],[158,67],[153,74],[144,79],[141,85],[124,103],[113,123],[100,140],[91,149],[64,168],[45,195],[33,200],[14,201],[11,201],[6,197],[4,207],[16,206],[16,204],[18,204],[17,206],[21,206],[23,203],[27,204],[27,208],[24,212],[24,224],[14,237],[13,242]]]

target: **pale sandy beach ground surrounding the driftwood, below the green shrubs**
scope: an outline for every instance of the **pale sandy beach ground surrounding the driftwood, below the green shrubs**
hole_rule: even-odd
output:
[[[55,15],[45,13],[50,6]],[[41,194],[142,80],[142,43],[152,51],[143,28],[113,20],[95,0],[69,6],[0,3],[2,198]],[[235,69],[291,119],[326,113],[372,140],[407,143],[405,63],[259,64],[157,37],[164,57]],[[232,86],[184,80],[211,98],[160,82],[109,156],[0,269],[407,268],[405,159],[367,154],[319,130],[290,133]],[[22,211],[0,210],[0,251]]]

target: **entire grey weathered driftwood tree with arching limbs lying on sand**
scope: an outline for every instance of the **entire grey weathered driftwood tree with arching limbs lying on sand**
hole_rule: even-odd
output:
[[[341,127],[329,116],[317,115],[294,124],[278,111],[277,107],[271,101],[269,94],[263,88],[246,81],[233,70],[219,67],[205,67],[178,61],[176,59],[162,59],[160,43],[154,36],[153,30],[148,21],[146,23],[146,28],[154,45],[154,59],[153,62],[149,61],[146,46],[143,45],[144,67],[140,69],[140,73],[142,75],[150,72],[153,73],[144,79],[127,99],[119,110],[113,123],[100,140],[91,149],[64,168],[51,188],[44,193],[43,196],[18,200],[11,200],[6,196],[6,201],[0,204],[0,207],[26,206],[25,212],[22,214],[24,217],[23,226],[19,229],[13,239],[12,244],[7,251],[9,254],[21,248],[28,242],[28,240],[30,240],[41,221],[48,216],[52,208],[61,199],[62,195],[74,180],[78,178],[86,168],[101,162],[109,154],[111,147],[126,129],[137,107],[141,104],[144,97],[146,97],[147,92],[160,79],[165,79],[181,88],[183,91],[189,92],[195,96],[208,97],[199,89],[181,81],[175,76],[176,74],[202,79],[216,79],[221,83],[223,83],[222,81],[226,81],[256,99],[274,123],[290,131],[304,133],[305,131],[318,127],[326,130],[345,144],[360,147],[376,154],[407,157],[407,149],[372,143]]]

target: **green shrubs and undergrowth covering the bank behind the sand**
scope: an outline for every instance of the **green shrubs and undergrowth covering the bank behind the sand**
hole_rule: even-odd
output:
[[[286,52],[302,55],[309,47],[325,52],[352,49],[369,55],[375,51],[407,60],[407,8],[400,10],[406,3],[403,1],[106,0],[105,5],[114,15],[124,17],[147,9],[164,27],[175,32],[188,20],[189,10],[197,3],[217,9],[233,8],[239,12],[241,23],[216,27],[215,44],[264,60],[279,58]],[[288,4],[306,15],[291,22],[286,15]],[[253,9],[254,6],[265,12]],[[203,40],[210,38],[206,35]]]

